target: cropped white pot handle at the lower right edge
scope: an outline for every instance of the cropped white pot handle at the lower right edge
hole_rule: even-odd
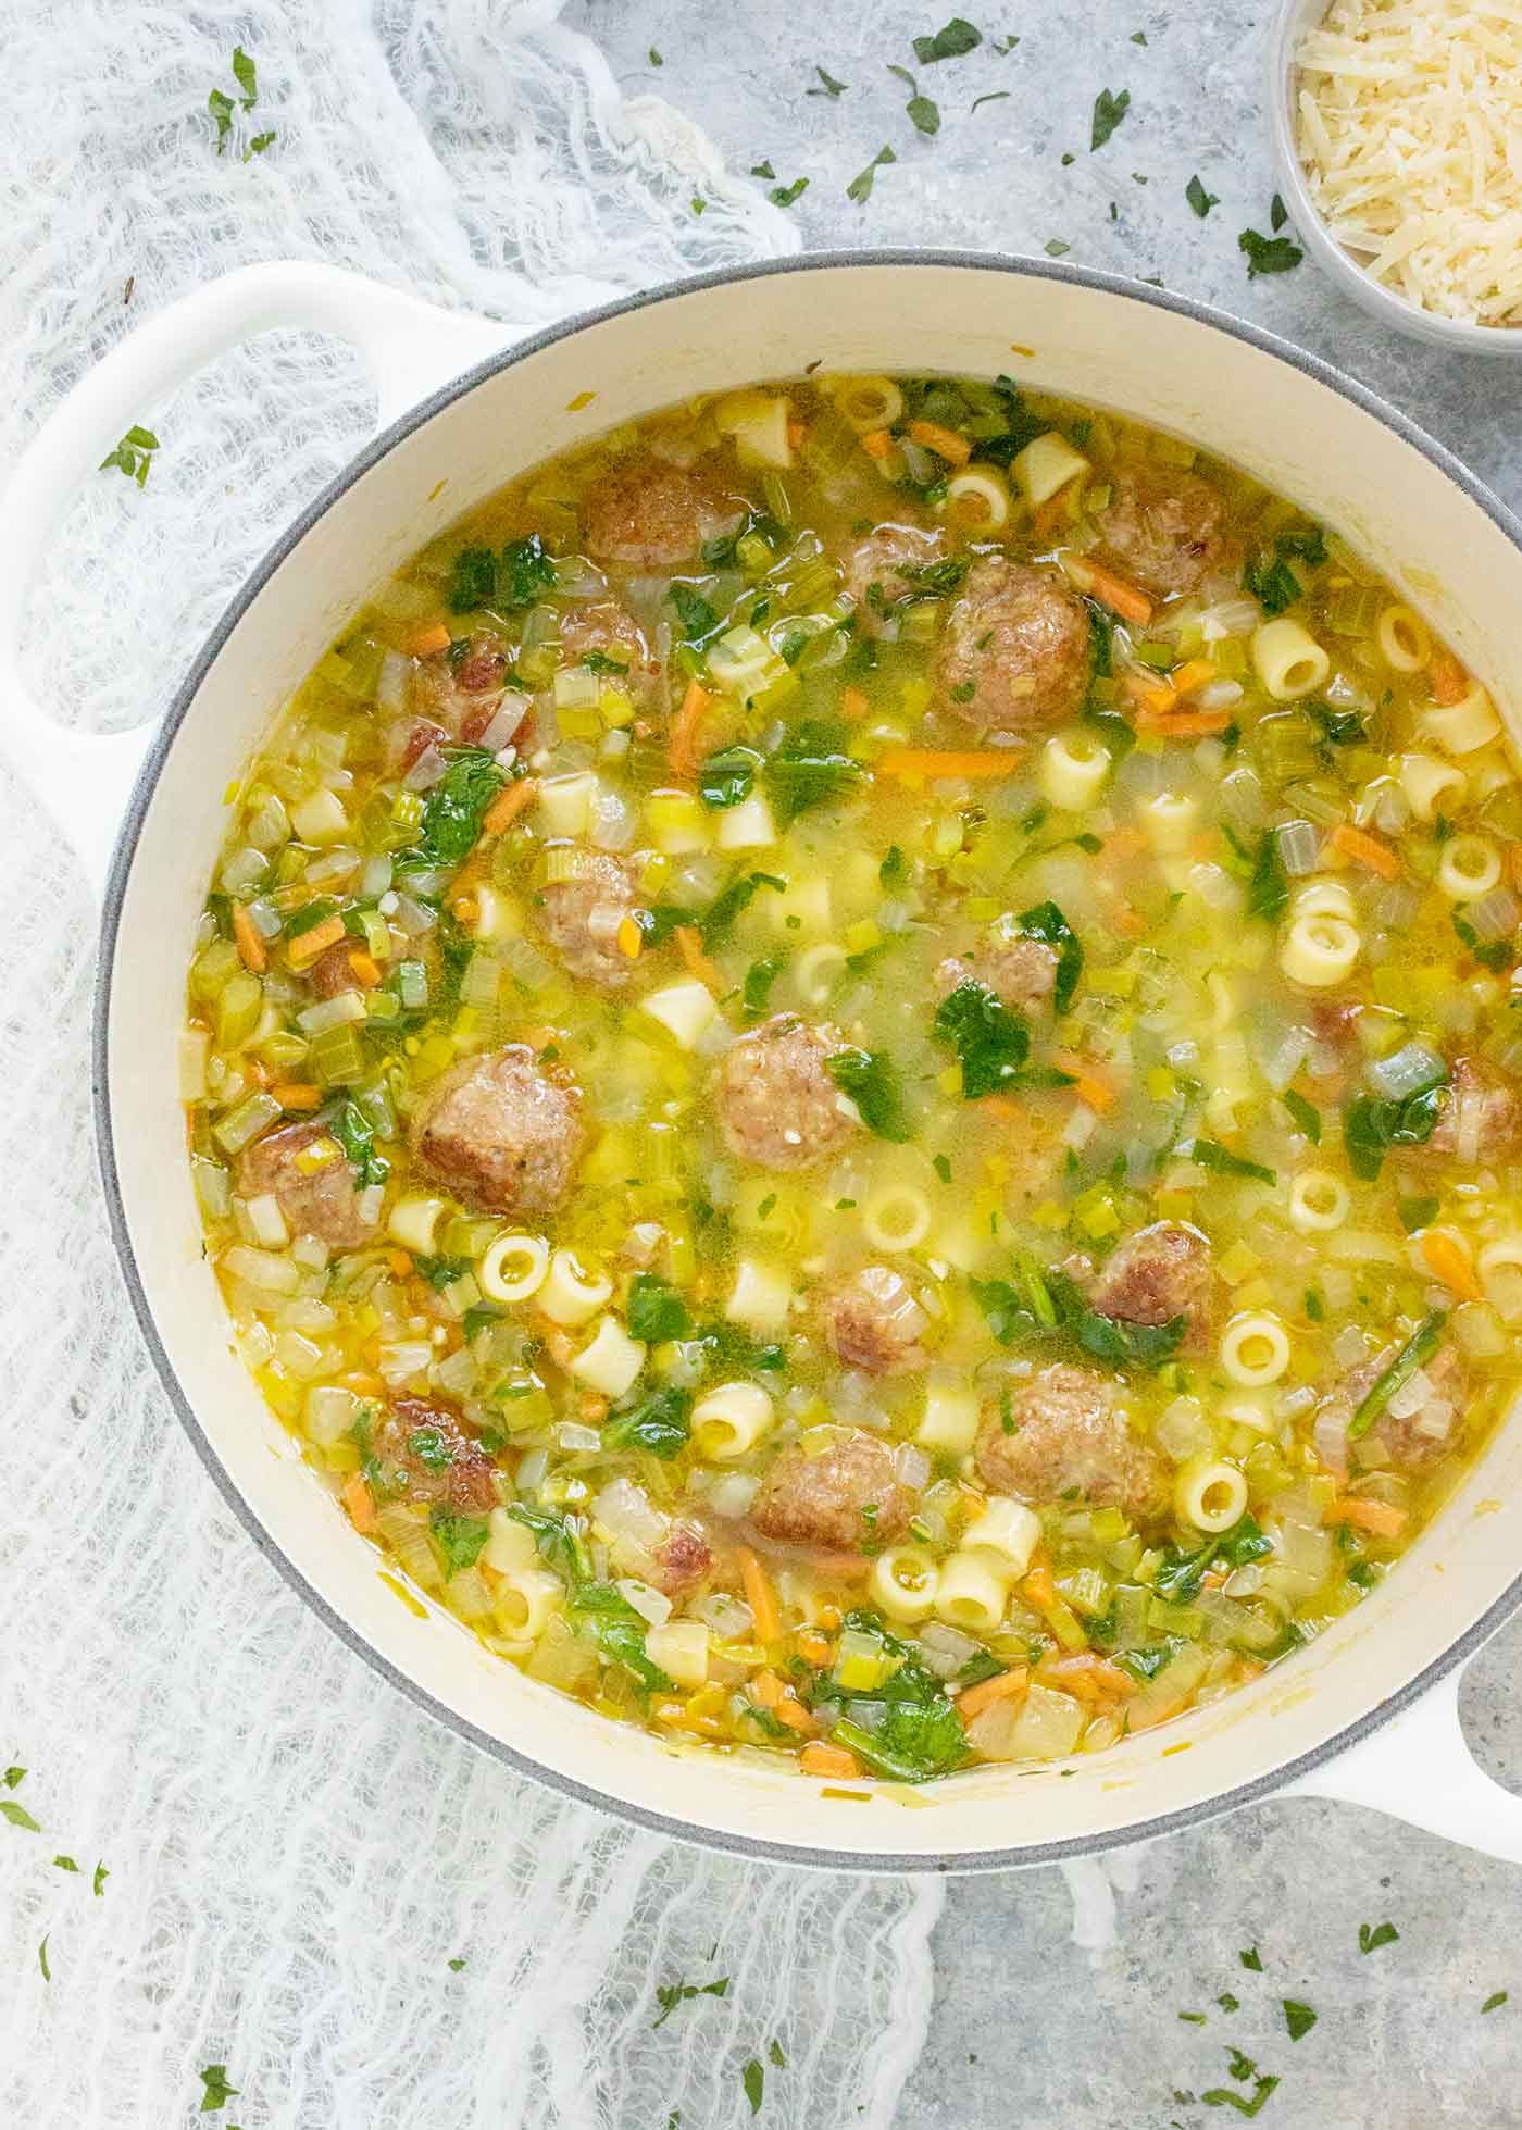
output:
[[[1465,1744],[1462,1676],[1462,1664],[1454,1666],[1409,1708],[1277,1796],[1367,1804],[1465,1849],[1522,1864],[1522,1798],[1492,1783]]]

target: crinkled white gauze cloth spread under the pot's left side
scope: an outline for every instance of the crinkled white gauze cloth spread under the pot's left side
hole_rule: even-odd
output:
[[[136,315],[251,260],[530,330],[790,249],[556,13],[0,0],[0,462]],[[234,45],[260,104],[217,160]],[[92,475],[32,603],[36,692],[96,728],[162,709],[370,409],[347,349],[285,334],[140,420],[147,488]],[[0,1804],[40,1828],[0,1819],[0,2121],[162,2130],[226,2064],[206,2119],[243,2130],[726,2130],[756,2060],[766,2130],[886,2126],[937,1887],[702,1855],[519,1781],[341,1646],[224,1506],[106,1240],[94,912],[9,773],[0,807],[0,1768],[28,1770]],[[724,1975],[654,2030],[658,1983]]]

